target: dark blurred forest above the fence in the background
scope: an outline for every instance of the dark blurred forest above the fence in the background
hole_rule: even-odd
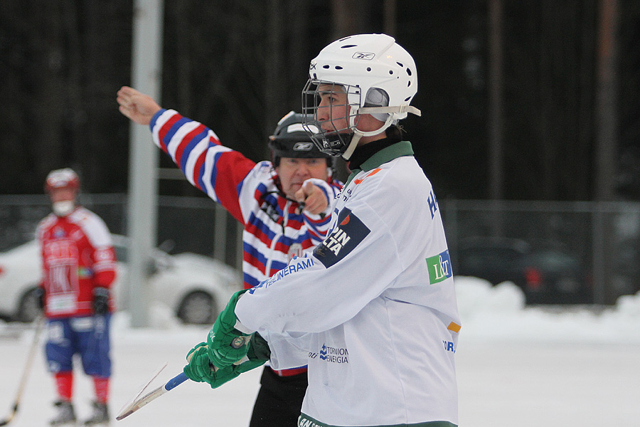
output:
[[[417,63],[422,117],[405,130],[439,199],[640,200],[640,1],[164,7],[161,105],[255,161],[277,120],[300,110],[321,48],[385,32]],[[131,81],[133,13],[132,0],[3,2],[0,194],[41,194],[67,166],[85,192],[127,191],[129,121],[115,97]],[[160,192],[199,195],[175,180]]]

